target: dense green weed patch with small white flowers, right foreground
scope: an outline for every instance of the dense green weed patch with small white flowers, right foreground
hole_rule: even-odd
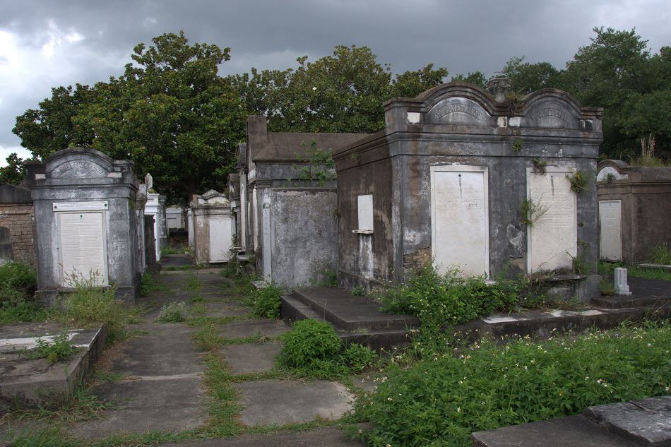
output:
[[[505,346],[481,340],[456,352],[433,341],[394,357],[376,391],[357,401],[357,420],[372,423],[361,434],[369,445],[467,447],[473,431],[670,392],[669,325]]]

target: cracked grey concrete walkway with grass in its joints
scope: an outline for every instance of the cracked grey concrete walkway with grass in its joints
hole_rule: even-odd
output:
[[[273,433],[186,441],[179,446],[362,445],[337,427],[300,432],[281,429],[287,424],[335,421],[352,408],[354,400],[340,383],[278,380],[267,374],[282,348],[278,336],[290,327],[282,321],[251,318],[249,309],[225,292],[227,280],[218,270],[172,271],[159,279],[167,287],[143,298],[148,306],[145,322],[133,327],[141,335],[109,350],[109,358],[102,361],[106,373],[102,376],[113,381],[98,383],[92,389],[114,407],[100,419],[75,424],[69,429],[73,436],[94,440],[148,431],[178,434],[216,429],[216,418],[208,414],[213,397],[204,382],[207,352],[194,342],[194,335],[198,330],[202,333],[203,327],[200,323],[158,322],[163,305],[186,302],[191,309],[198,309],[199,320],[208,321],[206,330],[212,328],[223,340],[215,354],[225,362],[230,386],[237,393],[239,412],[233,424],[242,433],[247,427]],[[240,374],[245,376],[234,378]],[[255,376],[259,377],[253,380]]]

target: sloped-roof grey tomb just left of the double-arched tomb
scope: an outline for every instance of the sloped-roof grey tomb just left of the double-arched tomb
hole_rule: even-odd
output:
[[[247,119],[239,146],[240,245],[256,256],[268,282],[292,286],[318,279],[338,263],[335,172],[321,182],[317,153],[333,153],[364,133],[270,132],[266,117]],[[330,178],[329,178],[330,177]]]

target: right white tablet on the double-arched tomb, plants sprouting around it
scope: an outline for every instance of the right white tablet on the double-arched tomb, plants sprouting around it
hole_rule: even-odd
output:
[[[576,193],[565,167],[547,167],[545,174],[528,168],[527,198],[545,213],[528,226],[528,273],[571,268],[578,254]]]

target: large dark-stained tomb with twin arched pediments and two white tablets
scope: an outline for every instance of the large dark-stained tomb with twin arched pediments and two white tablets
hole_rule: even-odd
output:
[[[433,262],[491,280],[570,278],[571,294],[598,294],[602,110],[559,90],[491,88],[455,82],[388,100],[384,130],[335,153],[343,285],[403,280]],[[588,270],[571,273],[574,259]]]

